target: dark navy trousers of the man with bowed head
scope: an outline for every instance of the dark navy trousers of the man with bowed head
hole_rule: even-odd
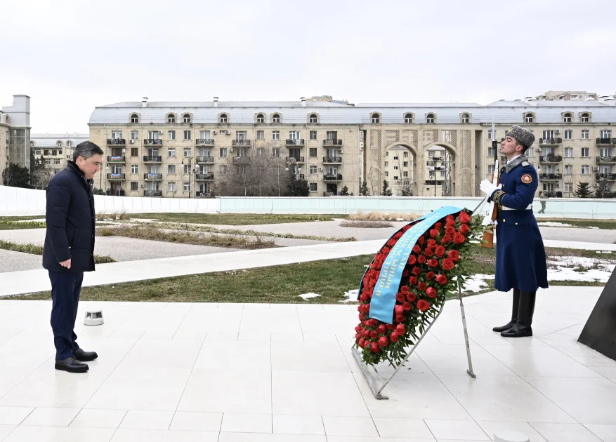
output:
[[[79,292],[84,281],[84,272],[51,272],[51,329],[55,344],[55,359],[70,358],[79,349],[77,335],[74,333],[77,320]]]

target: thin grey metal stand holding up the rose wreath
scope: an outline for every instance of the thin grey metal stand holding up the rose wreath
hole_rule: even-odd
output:
[[[483,201],[481,201],[481,203],[479,203],[479,206],[477,206],[475,210],[473,210],[473,214],[478,212],[478,210],[480,210],[481,208],[483,208],[483,205],[485,204],[486,201],[487,201],[487,197],[484,198]],[[468,375],[470,375],[474,379],[477,377],[477,375],[473,372],[473,361],[471,360],[471,346],[470,344],[468,344],[468,330],[466,329],[466,315],[464,314],[464,302],[462,302],[460,271],[459,271],[459,267],[457,266],[456,266],[456,269],[457,269],[458,295],[459,295],[459,300],[460,300],[460,312],[462,315],[462,328],[464,328],[464,342],[466,343],[466,358],[468,359],[468,370],[466,370],[466,373],[468,373]],[[404,366],[405,362],[408,361],[408,359],[411,357],[415,349],[417,349],[417,346],[421,343],[421,340],[423,340],[424,337],[428,334],[428,331],[432,328],[432,326],[438,319],[438,316],[440,316],[440,314],[443,313],[443,309],[445,308],[445,302],[446,301],[443,301],[443,304],[441,304],[440,309],[438,310],[438,314],[436,314],[434,319],[428,325],[428,328],[424,330],[424,333],[421,334],[421,336],[419,337],[419,340],[417,340],[417,342],[413,344],[412,348],[407,353],[402,363],[400,363],[400,365],[396,365],[393,361],[391,361],[391,359],[388,359],[389,363],[391,363],[391,365],[395,368],[395,370],[386,380],[384,380],[383,377],[381,377],[381,374],[376,370],[376,368],[372,367],[374,374],[376,374],[376,376],[379,377],[380,384],[381,384],[380,387],[379,387],[379,382],[377,382],[377,380],[374,379],[374,375],[370,373],[367,363],[363,361],[362,355],[355,348],[355,346],[351,347],[351,351],[353,351],[353,356],[355,357],[355,361],[358,363],[358,366],[360,366],[362,370],[362,375],[364,375],[376,399],[389,399],[388,396],[384,396],[384,394],[381,394],[381,391],[383,391],[383,389],[393,379],[393,377],[398,373],[398,371],[400,371],[400,368]]]

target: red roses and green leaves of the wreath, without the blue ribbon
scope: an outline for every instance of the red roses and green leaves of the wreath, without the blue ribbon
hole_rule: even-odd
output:
[[[457,293],[457,271],[462,280],[468,276],[461,260],[472,246],[468,239],[482,230],[480,218],[469,213],[464,209],[447,215],[419,236],[402,273],[391,324],[369,318],[372,293],[388,253],[417,221],[402,227],[374,256],[360,285],[360,323],[355,327],[355,347],[361,349],[366,363],[401,363],[443,302]]]

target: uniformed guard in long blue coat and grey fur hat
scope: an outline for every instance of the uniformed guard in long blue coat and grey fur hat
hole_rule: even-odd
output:
[[[532,336],[537,288],[548,288],[546,253],[532,214],[532,199],[539,180],[525,152],[535,141],[530,130],[513,126],[505,135],[500,152],[507,156],[500,185],[483,180],[482,192],[498,207],[496,271],[494,288],[513,288],[511,322],[493,330],[504,337]]]

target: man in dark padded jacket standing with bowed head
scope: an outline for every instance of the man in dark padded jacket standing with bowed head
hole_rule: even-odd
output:
[[[98,357],[77,345],[74,333],[84,272],[94,270],[94,175],[103,164],[103,150],[93,142],[75,147],[73,161],[47,187],[47,232],[43,267],[51,281],[51,328],[55,369],[71,373],[89,370],[85,361]]]

